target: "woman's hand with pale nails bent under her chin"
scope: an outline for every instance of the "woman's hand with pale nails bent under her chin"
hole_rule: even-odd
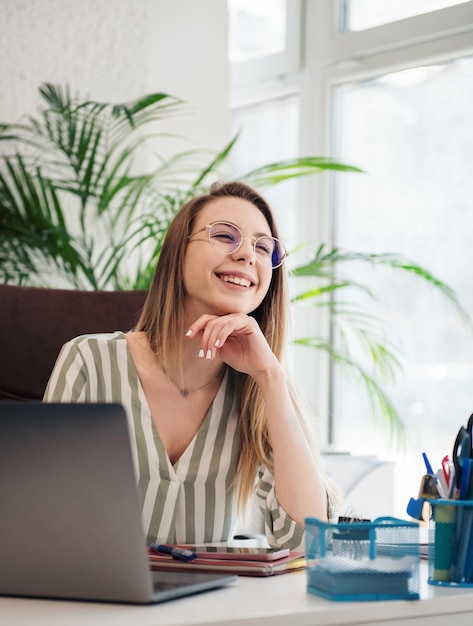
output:
[[[202,315],[190,326],[187,336],[196,337],[199,333],[202,358],[219,357],[255,380],[279,367],[258,323],[249,315]]]

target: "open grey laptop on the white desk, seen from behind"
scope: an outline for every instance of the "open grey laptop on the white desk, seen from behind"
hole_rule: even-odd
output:
[[[120,404],[0,402],[0,510],[0,595],[149,604],[236,580],[151,571]]]

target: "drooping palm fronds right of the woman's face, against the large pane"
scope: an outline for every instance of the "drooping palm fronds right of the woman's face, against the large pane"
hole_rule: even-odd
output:
[[[324,350],[333,364],[350,371],[368,393],[373,413],[378,413],[383,421],[395,429],[399,440],[402,440],[402,421],[381,386],[394,383],[396,375],[402,369],[401,359],[396,354],[397,350],[389,344],[386,333],[379,330],[382,328],[381,321],[370,314],[366,307],[346,301],[346,295],[353,289],[367,295],[371,300],[377,298],[367,283],[342,277],[353,263],[383,267],[420,280],[451,302],[464,321],[469,325],[471,322],[449,285],[422,266],[394,253],[361,253],[337,247],[329,248],[322,244],[308,263],[291,271],[296,287],[292,302],[324,309],[330,320],[332,335],[331,341],[309,337],[297,339],[295,343]],[[352,272],[351,275],[356,273]],[[304,280],[305,288],[301,291],[297,291],[298,279]],[[307,288],[309,279],[312,279],[313,285]],[[367,367],[372,369],[372,374],[368,373]]]

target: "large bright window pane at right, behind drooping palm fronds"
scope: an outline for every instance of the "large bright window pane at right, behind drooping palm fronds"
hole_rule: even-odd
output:
[[[339,177],[337,245],[405,255],[451,285],[473,315],[473,58],[349,84],[337,96],[340,156],[367,172]],[[421,453],[437,469],[473,411],[473,335],[415,278],[359,264],[351,278],[368,281],[377,301],[364,305],[387,320],[400,348],[404,371],[385,389],[408,440],[390,446],[360,388],[335,370],[335,444],[397,462],[396,513],[405,515],[425,472]]]

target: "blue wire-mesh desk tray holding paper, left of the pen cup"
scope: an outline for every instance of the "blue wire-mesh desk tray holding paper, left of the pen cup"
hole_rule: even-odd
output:
[[[307,591],[329,600],[418,600],[419,524],[305,520]]]

